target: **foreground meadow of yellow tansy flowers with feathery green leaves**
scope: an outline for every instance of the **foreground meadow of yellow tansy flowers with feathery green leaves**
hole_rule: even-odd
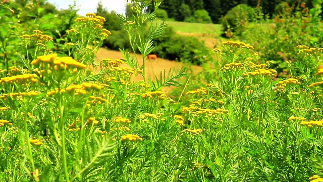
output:
[[[26,24],[0,1],[0,181],[323,181],[323,48],[292,45],[283,77],[243,35],[209,50],[199,76],[151,79],[167,26],[145,10],[161,2],[128,0],[118,18],[132,50],[97,61],[109,19],[55,23],[38,8]],[[65,21],[61,38],[48,33]]]

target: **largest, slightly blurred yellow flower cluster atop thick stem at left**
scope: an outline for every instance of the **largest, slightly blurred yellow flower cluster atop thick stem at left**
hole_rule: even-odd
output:
[[[59,68],[75,67],[75,68],[86,68],[86,65],[79,63],[71,57],[58,57],[57,54],[51,54],[46,56],[38,56],[36,60],[32,61],[31,64],[47,63],[47,66],[50,67],[53,64],[54,69],[58,70]]]

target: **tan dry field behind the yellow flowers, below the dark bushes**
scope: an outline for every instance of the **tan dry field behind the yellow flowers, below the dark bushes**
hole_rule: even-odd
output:
[[[130,56],[132,57],[134,56],[134,54],[131,53]],[[96,57],[97,57],[97,61],[100,61],[103,58],[110,58],[113,60],[123,59],[122,53],[120,51],[107,50],[105,48],[100,48],[99,51],[96,53]],[[139,64],[142,65],[142,55],[137,54],[137,58],[140,60]],[[160,71],[163,71],[163,74],[164,74],[164,70],[166,70],[166,74],[168,74],[168,71],[170,70],[170,68],[175,67],[176,69],[178,69],[179,67],[185,66],[183,65],[183,63],[180,63],[180,62],[158,58],[158,55],[156,60],[146,59],[145,65],[146,65],[147,78],[150,78],[152,80],[155,80],[155,75],[159,78]],[[129,67],[127,64],[122,64],[122,66]],[[197,74],[200,71],[202,71],[202,67],[196,66],[196,65],[192,65],[191,69],[193,70],[193,74]],[[95,71],[96,72],[99,71],[99,68]],[[132,80],[133,81],[143,80],[143,77],[141,75],[137,75]],[[163,91],[168,93],[170,89],[171,89],[170,87],[163,88]]]

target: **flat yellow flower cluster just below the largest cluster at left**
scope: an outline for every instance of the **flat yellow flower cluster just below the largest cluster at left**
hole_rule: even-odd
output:
[[[57,93],[65,93],[66,91],[71,91],[74,90],[74,95],[77,96],[79,94],[87,94],[86,90],[91,90],[91,89],[102,89],[104,86],[102,84],[95,84],[95,83],[82,83],[82,84],[77,84],[77,85],[70,85],[66,89],[62,88],[59,90],[59,88],[55,88],[55,90],[47,92],[47,95],[51,96],[53,94]],[[92,98],[93,99],[93,98]],[[96,98],[97,99],[97,98]],[[101,98],[102,99],[102,98]],[[105,100],[102,100],[105,101]]]

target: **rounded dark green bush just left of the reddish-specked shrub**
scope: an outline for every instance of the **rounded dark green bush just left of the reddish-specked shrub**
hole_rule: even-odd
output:
[[[240,35],[248,22],[254,20],[254,9],[241,4],[230,10],[221,20],[224,31],[231,30]]]

